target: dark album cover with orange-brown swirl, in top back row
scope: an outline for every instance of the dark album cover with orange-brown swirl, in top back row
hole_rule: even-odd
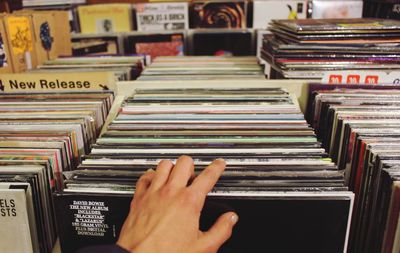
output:
[[[246,2],[195,2],[191,28],[246,28]]]

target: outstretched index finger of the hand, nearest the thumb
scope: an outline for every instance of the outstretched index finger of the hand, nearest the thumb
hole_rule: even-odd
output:
[[[196,192],[200,192],[204,196],[207,195],[214,188],[222,172],[224,172],[225,166],[226,162],[224,159],[219,158],[214,160],[193,180],[190,188]]]

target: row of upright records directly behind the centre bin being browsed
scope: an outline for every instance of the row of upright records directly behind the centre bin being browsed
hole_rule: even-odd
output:
[[[254,56],[157,57],[138,80],[265,79]]]

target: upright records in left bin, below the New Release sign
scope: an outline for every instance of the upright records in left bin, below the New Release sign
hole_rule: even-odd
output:
[[[110,92],[0,96],[0,252],[52,252],[52,194],[95,142],[112,102]]]

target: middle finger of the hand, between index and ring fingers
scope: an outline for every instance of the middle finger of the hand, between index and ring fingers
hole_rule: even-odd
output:
[[[194,175],[194,163],[190,156],[181,156],[176,161],[169,177],[168,184],[172,187],[186,187],[189,179]]]

